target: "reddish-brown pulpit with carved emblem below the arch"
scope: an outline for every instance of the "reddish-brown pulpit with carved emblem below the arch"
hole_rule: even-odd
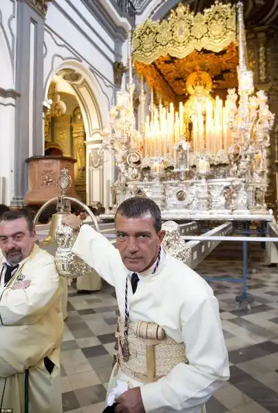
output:
[[[74,187],[76,159],[66,156],[32,156],[25,162],[28,164],[28,192],[24,198],[26,205],[39,206],[60,195],[56,182],[61,169],[67,169],[72,178],[72,187],[67,191],[67,195],[80,198]]]

